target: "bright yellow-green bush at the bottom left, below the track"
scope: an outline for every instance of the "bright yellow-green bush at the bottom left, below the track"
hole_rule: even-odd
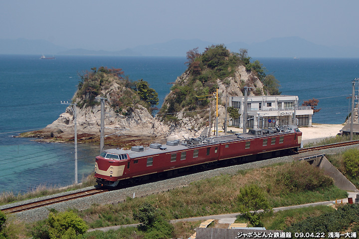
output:
[[[33,239],[76,239],[87,232],[87,225],[71,211],[50,212],[47,220],[38,222],[32,230]]]

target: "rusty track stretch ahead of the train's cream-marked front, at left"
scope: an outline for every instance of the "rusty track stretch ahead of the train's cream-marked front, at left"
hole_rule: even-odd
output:
[[[43,200],[32,202],[32,203],[26,203],[26,204],[21,204],[18,206],[12,206],[12,207],[8,207],[8,208],[4,208],[1,211],[4,213],[18,213],[21,211],[39,208],[39,207],[43,207],[43,206],[47,206],[47,205],[51,205],[51,204],[55,204],[55,203],[59,203],[59,202],[65,202],[65,201],[69,201],[72,199],[84,198],[84,197],[88,197],[91,195],[104,193],[107,191],[109,191],[109,190],[107,190],[107,189],[90,189],[90,190],[86,190],[86,191],[82,191],[82,192],[70,193],[70,194],[63,195],[63,196],[57,196],[54,198],[43,199]]]

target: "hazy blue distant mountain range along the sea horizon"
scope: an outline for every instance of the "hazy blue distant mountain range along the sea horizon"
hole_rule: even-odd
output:
[[[121,51],[92,51],[86,49],[67,49],[46,40],[0,39],[0,54],[37,54],[37,55],[111,55],[111,56],[186,56],[190,49],[198,47],[203,52],[205,47],[220,43],[198,39],[174,39],[164,43],[141,45]],[[263,42],[247,44],[244,42],[224,43],[234,52],[240,48],[248,50],[251,57],[359,57],[359,48],[323,46],[300,37],[272,38]]]

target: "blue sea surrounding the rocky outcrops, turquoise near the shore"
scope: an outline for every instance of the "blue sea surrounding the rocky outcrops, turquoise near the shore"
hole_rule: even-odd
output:
[[[185,57],[0,55],[0,193],[26,192],[38,185],[66,186],[74,182],[74,145],[39,143],[15,138],[40,129],[62,114],[80,81],[93,67],[122,68],[131,80],[150,83],[160,99],[186,69]],[[256,59],[254,59],[256,60]],[[280,81],[282,95],[299,96],[300,104],[319,99],[316,123],[343,123],[350,111],[352,81],[359,77],[359,59],[259,58]],[[356,88],[358,94],[358,87]],[[78,145],[78,177],[93,171],[99,146]]]

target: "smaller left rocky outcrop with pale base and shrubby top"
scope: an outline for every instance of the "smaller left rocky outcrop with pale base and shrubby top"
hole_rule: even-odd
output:
[[[101,97],[106,98],[104,101],[105,135],[114,134],[112,138],[123,135],[165,137],[169,126],[154,119],[149,112],[151,110],[150,102],[152,100],[151,103],[156,103],[157,93],[153,93],[152,98],[147,100],[143,99],[139,90],[143,86],[148,86],[147,82],[142,80],[131,82],[115,71],[121,69],[100,69],[102,71],[94,71],[82,76],[82,82],[73,98],[73,103],[77,105],[78,138],[94,139],[99,137]],[[153,89],[146,88],[147,93],[152,92],[151,90]],[[74,112],[72,108],[73,106],[67,107],[65,113],[38,132],[40,136],[73,138]]]

